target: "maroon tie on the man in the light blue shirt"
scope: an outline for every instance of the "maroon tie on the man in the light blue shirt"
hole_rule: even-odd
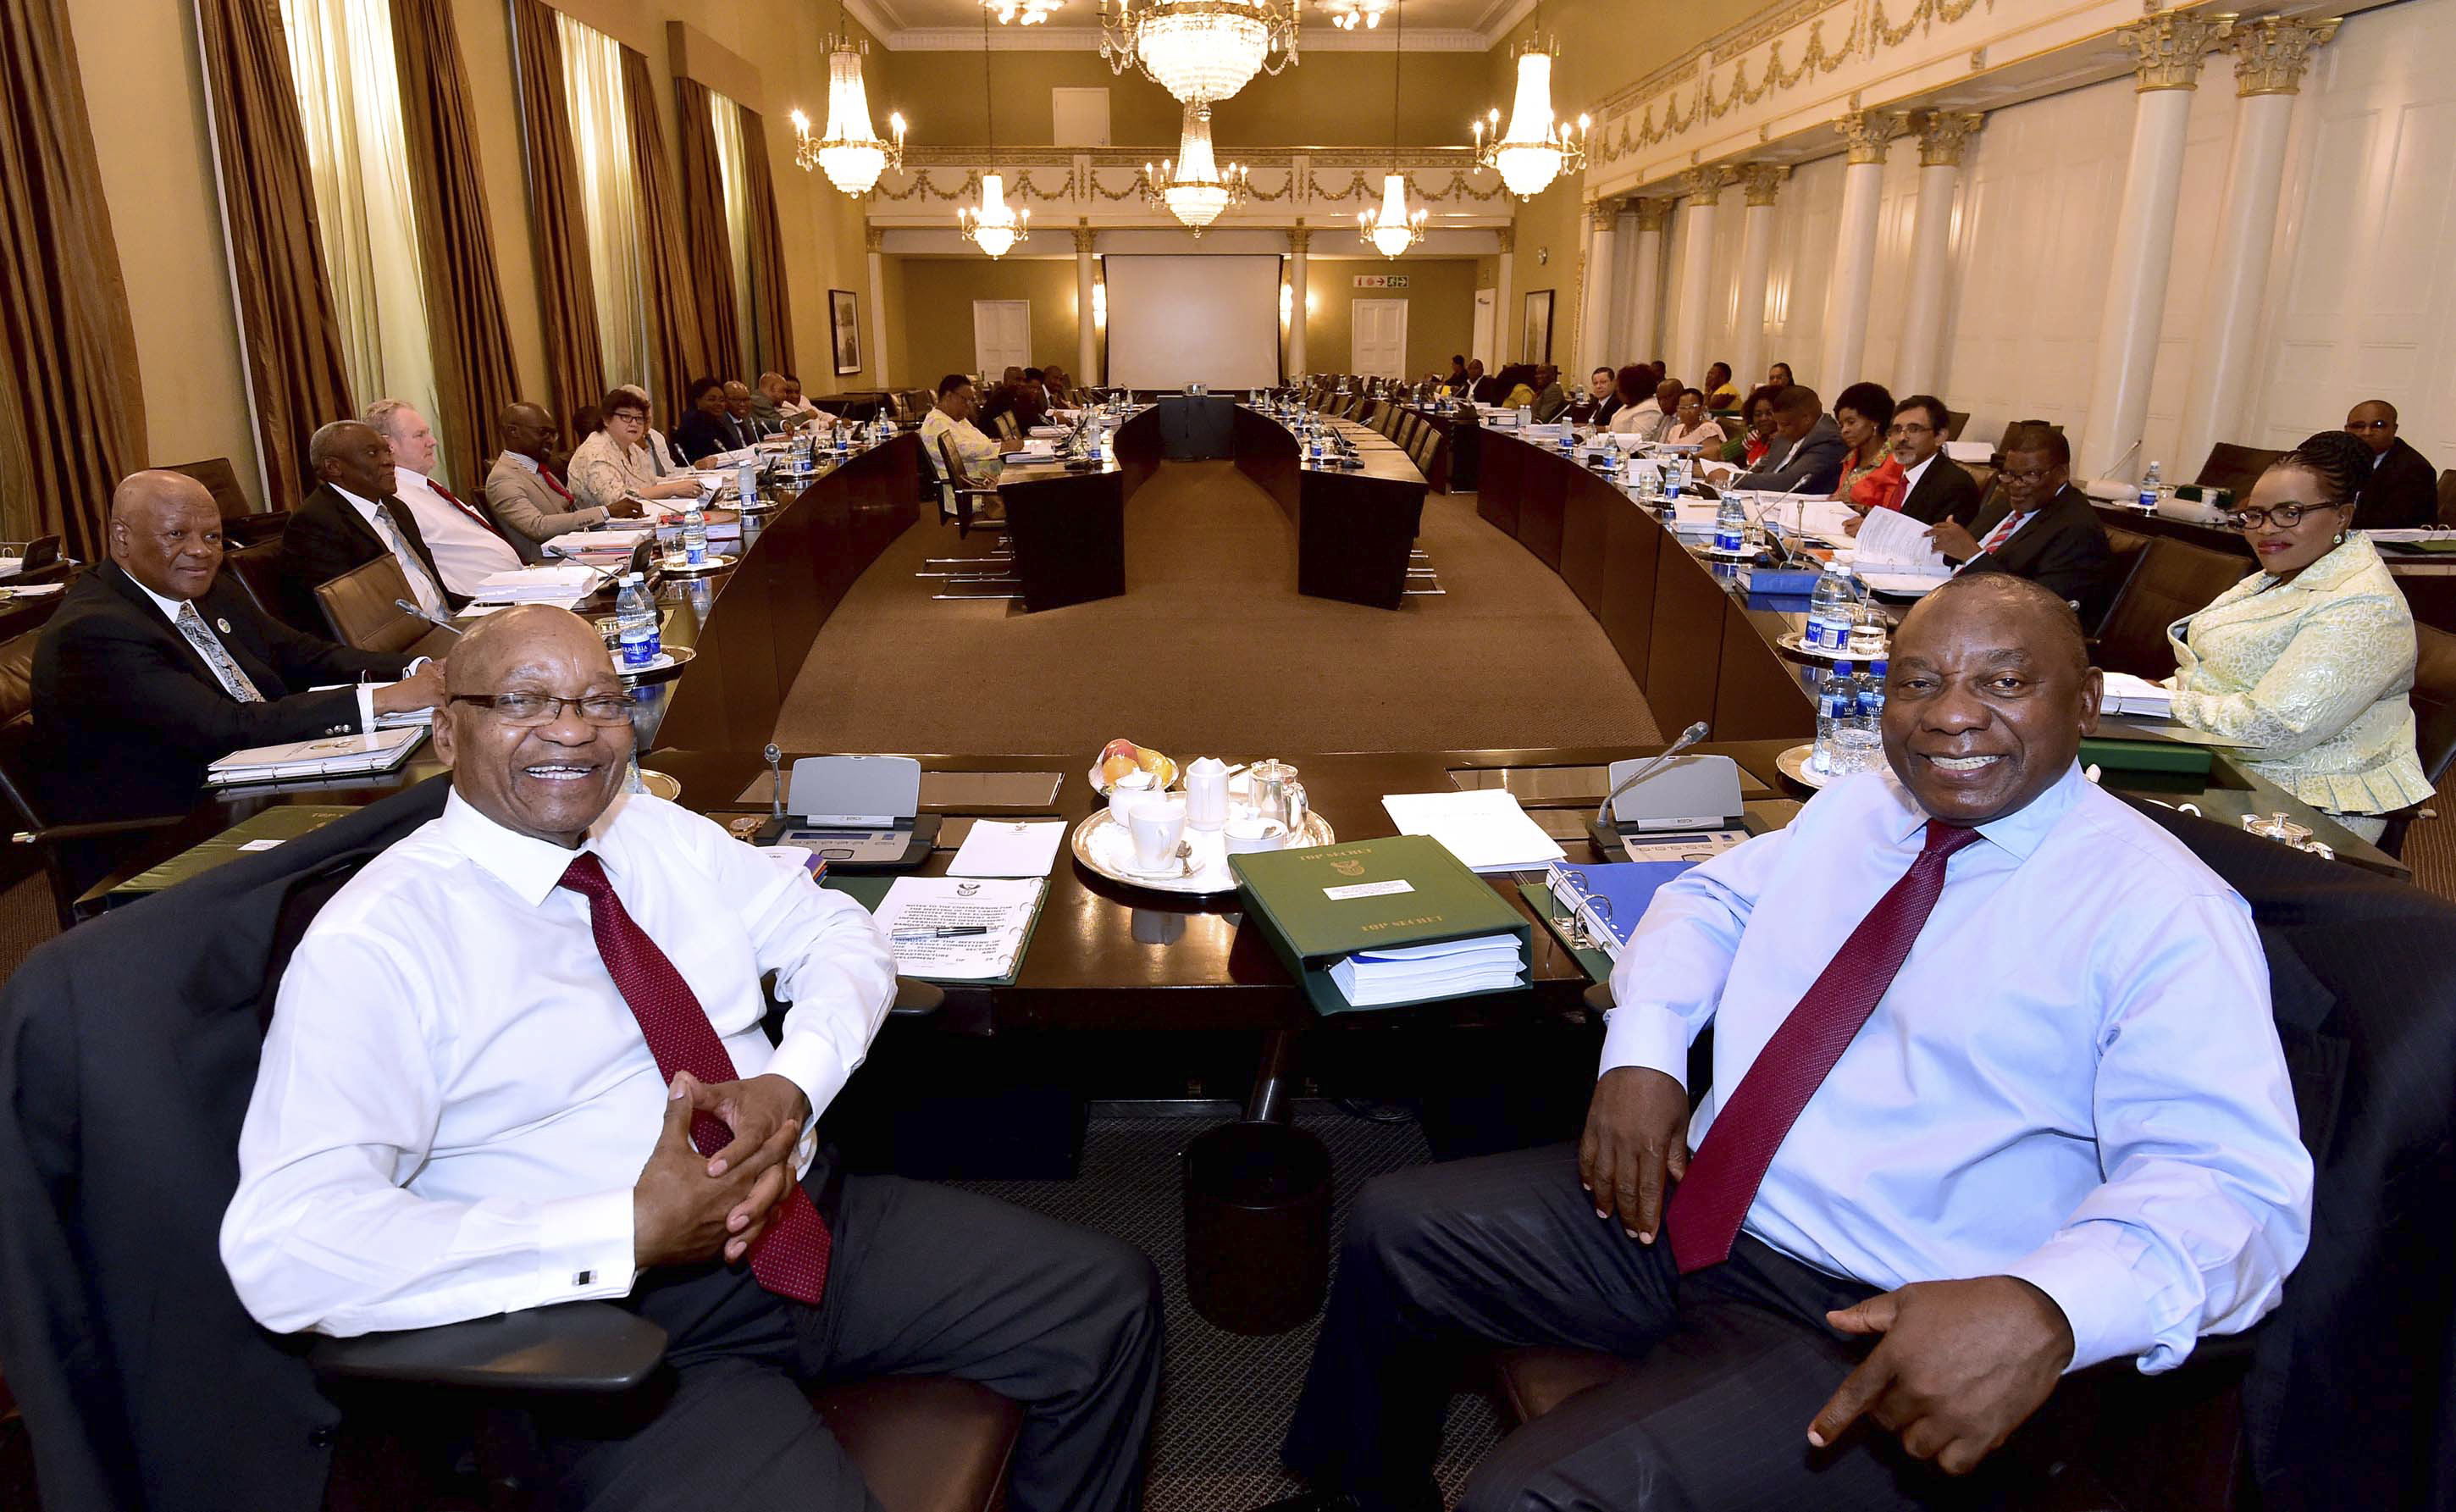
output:
[[[1935,898],[1945,891],[1945,857],[1977,837],[1977,830],[1928,820],[1928,844],[1918,859],[1842,940],[1808,997],[1739,1078],[1663,1215],[1682,1276],[1731,1257],[1731,1240],[1766,1181],[1773,1151],[1876,1011],[1876,999],[1894,984],[1911,943],[1935,911]]]

